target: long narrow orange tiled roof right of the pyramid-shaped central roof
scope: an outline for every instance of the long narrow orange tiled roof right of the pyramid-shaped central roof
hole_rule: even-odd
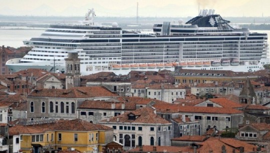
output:
[[[192,112],[192,113],[213,113],[213,114],[239,114],[240,110],[222,107],[197,107],[197,106],[179,106],[179,105],[153,105],[157,112]]]

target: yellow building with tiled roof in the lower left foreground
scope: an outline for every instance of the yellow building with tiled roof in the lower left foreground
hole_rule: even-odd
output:
[[[102,151],[102,146],[113,141],[111,127],[80,119],[60,119],[52,123],[28,125],[24,128],[16,125],[10,129],[10,131],[18,130],[17,133],[22,135],[21,149],[26,153],[68,148],[80,152],[92,152],[95,148],[97,151]]]

